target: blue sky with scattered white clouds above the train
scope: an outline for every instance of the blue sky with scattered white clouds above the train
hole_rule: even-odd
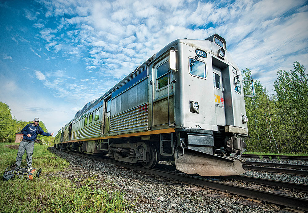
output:
[[[273,92],[308,64],[307,1],[0,1],[0,101],[57,132],[177,38],[217,33],[240,69]]]

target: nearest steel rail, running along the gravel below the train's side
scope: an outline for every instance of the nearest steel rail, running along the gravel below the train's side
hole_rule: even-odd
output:
[[[278,205],[281,205],[281,206],[294,207],[294,208],[298,208],[298,209],[301,209],[301,210],[304,210],[304,211],[308,211],[308,199],[304,199],[304,198],[298,198],[298,197],[293,197],[293,196],[288,196],[288,195],[276,194],[276,193],[272,193],[272,192],[266,192],[266,191],[261,191],[261,190],[246,188],[246,187],[234,186],[234,185],[221,183],[221,182],[217,182],[217,181],[213,181],[213,180],[207,180],[207,179],[204,179],[204,178],[189,176],[187,174],[175,174],[174,172],[160,171],[160,170],[156,170],[156,169],[147,169],[147,168],[139,167],[139,166],[132,165],[132,164],[115,162],[115,161],[112,161],[112,160],[109,160],[109,159],[104,159],[104,158],[101,158],[101,157],[98,157],[98,156],[93,156],[93,155],[84,155],[84,154],[75,153],[75,152],[68,152],[68,153],[87,157],[87,158],[90,158],[90,159],[95,159],[95,160],[102,161],[102,162],[113,163],[113,164],[121,166],[121,167],[127,167],[127,168],[130,168],[132,170],[139,170],[139,171],[147,172],[147,173],[150,173],[150,174],[153,174],[153,175],[159,175],[159,176],[165,177],[165,178],[172,178],[174,180],[178,180],[178,181],[182,181],[182,182],[186,182],[186,183],[191,183],[191,184],[194,184],[194,185],[208,187],[208,188],[211,188],[211,189],[215,189],[215,190],[219,190],[219,191],[225,191],[225,192],[229,192],[229,193],[232,193],[232,194],[241,195],[241,196],[244,196],[244,197],[259,199],[259,200],[262,200],[262,201],[278,204]],[[243,179],[245,178],[245,177],[241,177],[241,176],[242,175],[240,175],[240,177],[238,177],[238,178],[243,178]],[[280,181],[280,182],[283,182],[283,181]],[[286,183],[288,183],[288,182],[286,182]],[[280,183],[280,184],[282,185],[283,183]],[[300,188],[301,186],[297,185],[296,187]],[[305,185],[305,186],[302,186],[302,187],[306,187],[306,189],[307,189],[308,186]],[[293,187],[293,188],[295,189],[295,187]]]

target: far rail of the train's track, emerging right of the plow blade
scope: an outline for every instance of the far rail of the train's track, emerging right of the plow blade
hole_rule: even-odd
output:
[[[308,185],[302,184],[302,183],[292,183],[292,182],[286,182],[281,180],[271,180],[271,179],[264,179],[264,178],[256,178],[256,177],[250,177],[245,175],[234,175],[234,176],[225,176],[227,179],[233,179],[233,180],[241,180],[247,183],[258,183],[265,186],[270,187],[277,187],[279,188],[287,188],[291,189],[293,191],[302,191],[302,192],[308,192]]]

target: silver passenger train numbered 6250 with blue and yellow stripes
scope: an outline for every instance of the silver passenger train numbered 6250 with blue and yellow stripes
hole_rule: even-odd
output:
[[[253,87],[253,83],[252,83]],[[239,175],[248,136],[241,70],[218,34],[177,39],[88,102],[55,147],[187,174]]]

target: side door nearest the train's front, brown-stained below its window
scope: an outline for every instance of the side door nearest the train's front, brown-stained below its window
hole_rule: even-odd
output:
[[[153,66],[153,126],[174,124],[173,79],[170,57],[167,56]],[[169,88],[168,88],[169,81]],[[169,93],[168,93],[169,92]]]

